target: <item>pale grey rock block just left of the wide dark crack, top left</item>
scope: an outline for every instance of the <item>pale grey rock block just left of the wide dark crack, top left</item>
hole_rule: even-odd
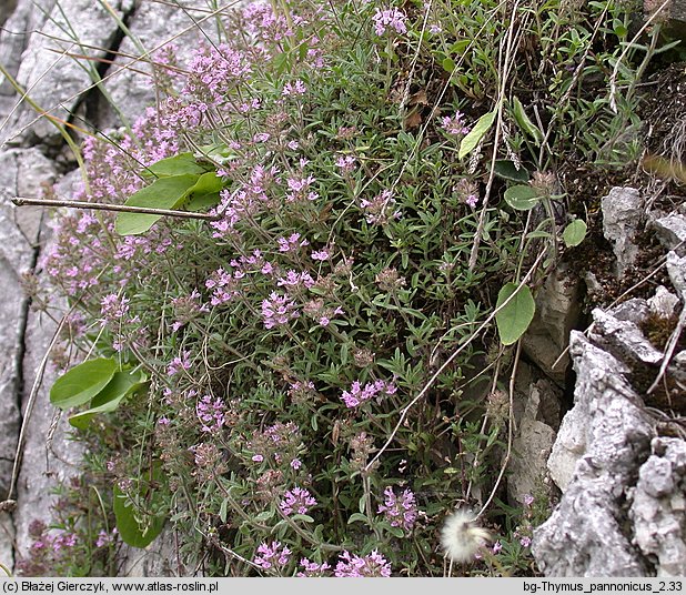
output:
[[[122,19],[133,9],[133,0],[117,0],[110,2],[110,6],[117,17]],[[37,11],[34,7],[32,10]],[[87,70],[94,68],[94,62],[83,60],[79,63],[68,54],[87,53],[102,58],[117,31],[117,20],[100,2],[60,2],[59,7],[52,7],[41,34],[31,36],[21,56],[18,82],[41,109],[56,118],[68,120],[81,102],[83,90],[93,82]],[[59,132],[48,119],[37,118],[28,104],[22,105],[10,119],[3,140],[30,143],[36,139],[57,142]]]

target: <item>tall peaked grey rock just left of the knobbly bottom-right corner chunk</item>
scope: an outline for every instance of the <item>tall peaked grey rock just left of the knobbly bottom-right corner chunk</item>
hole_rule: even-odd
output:
[[[645,576],[648,565],[624,533],[623,502],[647,457],[653,426],[619,360],[577,332],[571,352],[575,406],[548,462],[552,476],[564,477],[564,495],[535,531],[533,553],[547,576]],[[564,470],[554,471],[559,461]]]

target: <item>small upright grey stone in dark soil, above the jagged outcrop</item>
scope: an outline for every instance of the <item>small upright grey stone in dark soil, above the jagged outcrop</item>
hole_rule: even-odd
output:
[[[633,188],[613,188],[602,200],[603,233],[613,243],[618,276],[624,274],[638,254],[634,239],[643,223],[643,203],[640,193]]]

